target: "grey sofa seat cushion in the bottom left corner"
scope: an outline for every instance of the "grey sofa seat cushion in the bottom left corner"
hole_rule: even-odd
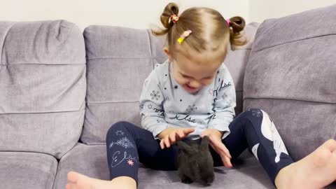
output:
[[[52,188],[57,160],[51,155],[0,152],[0,160],[0,188]]]

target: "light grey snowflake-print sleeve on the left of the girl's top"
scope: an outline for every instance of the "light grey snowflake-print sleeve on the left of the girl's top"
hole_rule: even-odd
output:
[[[142,117],[141,127],[152,132],[155,139],[158,139],[158,134],[168,127],[162,106],[163,101],[158,74],[153,70],[144,82],[139,106]]]

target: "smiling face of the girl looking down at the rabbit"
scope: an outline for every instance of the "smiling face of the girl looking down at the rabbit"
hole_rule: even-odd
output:
[[[173,62],[176,82],[187,92],[195,93],[212,83],[225,55],[225,52],[189,51],[183,54],[176,52],[174,58],[169,55],[169,59]]]

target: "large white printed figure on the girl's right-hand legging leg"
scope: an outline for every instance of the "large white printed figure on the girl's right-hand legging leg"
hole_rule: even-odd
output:
[[[276,127],[271,118],[268,116],[268,114],[265,113],[265,111],[262,111],[262,115],[263,115],[261,123],[262,135],[264,135],[266,139],[273,141],[273,148],[276,153],[274,161],[279,162],[281,153],[286,153],[288,155],[286,146],[285,144],[283,144],[280,134],[276,130]]]

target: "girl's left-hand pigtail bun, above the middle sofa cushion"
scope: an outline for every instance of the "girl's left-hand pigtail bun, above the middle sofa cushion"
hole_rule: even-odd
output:
[[[179,6],[177,6],[176,3],[167,4],[165,10],[163,10],[163,13],[160,17],[161,23],[165,27],[165,29],[158,29],[157,31],[154,31],[152,29],[152,33],[155,36],[161,36],[167,34],[169,29],[174,25],[174,22],[172,22],[171,20],[171,16],[178,14],[179,14]]]

